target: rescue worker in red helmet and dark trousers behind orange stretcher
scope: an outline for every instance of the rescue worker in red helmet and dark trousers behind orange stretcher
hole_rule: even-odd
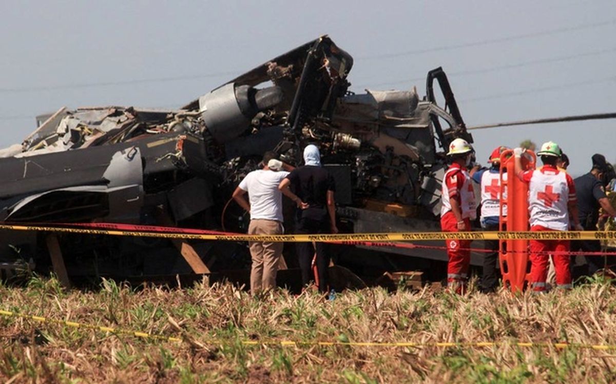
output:
[[[490,169],[480,169],[472,175],[472,180],[481,186],[481,228],[484,231],[498,231],[500,223],[500,155],[508,150],[506,146],[498,146],[490,154],[488,161]],[[507,180],[507,174],[503,173]],[[507,192],[503,193],[507,198]],[[507,206],[503,206],[503,216],[507,215]],[[498,264],[498,240],[484,240],[486,249],[491,250],[484,256],[484,268],[481,276],[480,290],[494,292],[498,287],[500,273],[496,269]]]

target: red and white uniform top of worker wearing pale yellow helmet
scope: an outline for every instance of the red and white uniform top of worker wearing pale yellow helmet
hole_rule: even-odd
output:
[[[443,180],[443,190],[440,196],[440,217],[452,210],[449,199],[455,198],[460,203],[462,218],[474,220],[477,217],[477,202],[475,191],[472,189],[471,176],[466,169],[458,164],[452,164]]]

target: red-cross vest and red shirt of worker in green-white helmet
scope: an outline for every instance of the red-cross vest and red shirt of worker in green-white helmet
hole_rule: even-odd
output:
[[[569,202],[576,201],[573,179],[552,166],[527,170],[522,180],[529,183],[530,226],[556,231],[569,228]]]

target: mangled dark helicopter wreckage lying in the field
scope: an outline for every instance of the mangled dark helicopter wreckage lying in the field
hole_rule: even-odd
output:
[[[447,76],[441,68],[429,71],[421,98],[415,89],[353,94],[352,65],[351,55],[323,36],[179,110],[106,106],[39,116],[21,145],[0,150],[0,222],[242,231],[246,217],[227,204],[241,178],[265,151],[297,166],[304,146],[317,143],[336,178],[341,232],[438,231],[443,148],[456,137],[472,142]],[[54,242],[45,236],[0,231],[0,260],[49,270]],[[250,263],[243,243],[181,243],[83,234],[55,239],[71,279],[190,274],[179,252],[185,247],[208,271]],[[291,248],[285,258],[293,266]],[[408,260],[423,270],[447,260],[441,250],[354,249],[333,256],[359,276],[405,270]]]

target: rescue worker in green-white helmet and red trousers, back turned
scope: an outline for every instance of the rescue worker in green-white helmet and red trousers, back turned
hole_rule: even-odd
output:
[[[522,148],[514,149],[515,170],[520,180],[529,183],[529,212],[531,231],[567,231],[569,222],[575,230],[583,230],[578,220],[575,183],[556,168],[562,151],[554,142],[541,145],[537,152],[543,167],[522,171]],[[530,241],[530,282],[533,292],[545,292],[549,255],[554,257],[556,286],[571,289],[571,256],[569,240]]]

